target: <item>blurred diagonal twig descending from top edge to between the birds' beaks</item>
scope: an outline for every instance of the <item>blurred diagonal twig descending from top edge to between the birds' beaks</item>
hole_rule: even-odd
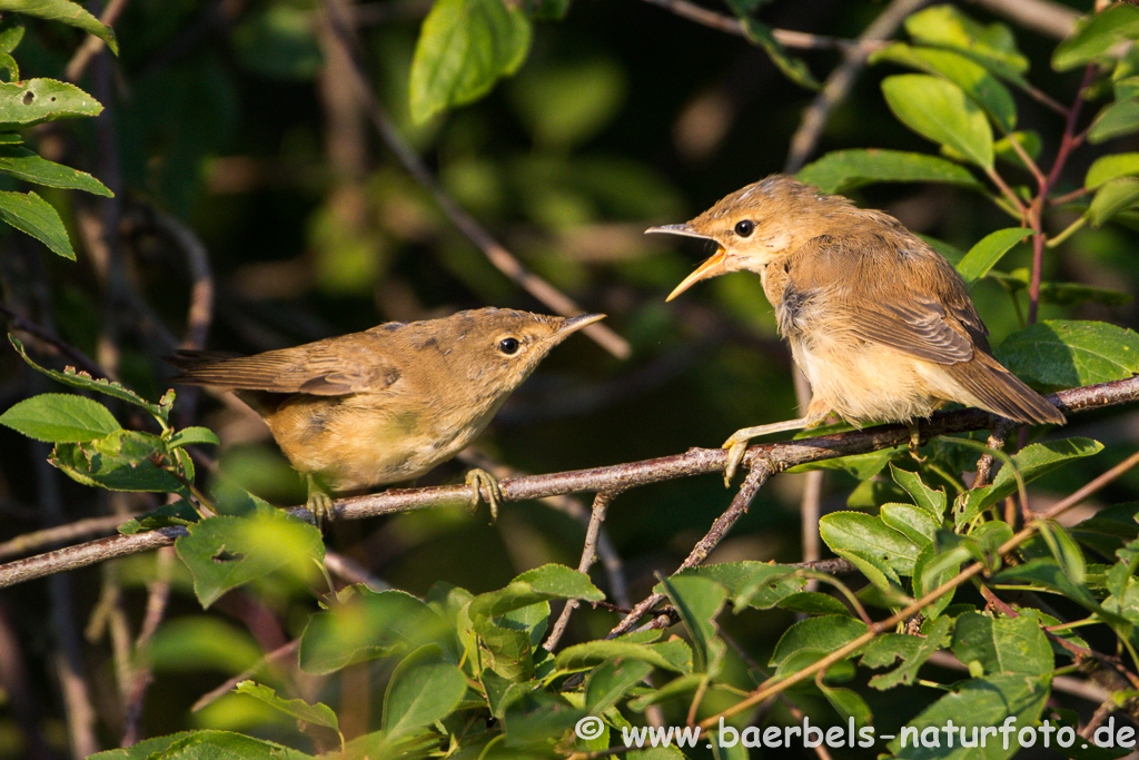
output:
[[[458,201],[443,189],[443,186],[435,179],[427,164],[424,163],[423,158],[419,157],[408,141],[403,139],[399,130],[396,130],[395,124],[387,115],[387,111],[376,97],[376,85],[368,77],[367,67],[362,65],[360,50],[353,39],[351,25],[337,13],[335,3],[325,3],[323,11],[328,14],[329,24],[333,31],[336,32],[336,36],[341,44],[344,46],[344,50],[352,62],[352,82],[355,85],[364,111],[368,113],[369,119],[371,119],[372,125],[380,138],[392,153],[396,155],[408,173],[431,193],[435,198],[435,203],[439,204],[443,213],[451,220],[451,223],[467,239],[478,246],[490,262],[516,285],[559,314],[570,317],[583,313],[584,310],[576,302],[526,269],[513,253],[495,240],[474,216],[459,205]],[[628,341],[600,322],[590,325],[582,332],[618,359],[625,359],[632,353]]]

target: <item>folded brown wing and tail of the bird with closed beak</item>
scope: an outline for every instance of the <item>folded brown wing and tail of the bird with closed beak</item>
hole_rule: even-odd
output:
[[[182,370],[177,378],[181,383],[269,393],[347,395],[361,391],[380,392],[401,375],[391,358],[369,351],[367,345],[339,338],[221,360],[210,354],[180,351],[171,362]]]

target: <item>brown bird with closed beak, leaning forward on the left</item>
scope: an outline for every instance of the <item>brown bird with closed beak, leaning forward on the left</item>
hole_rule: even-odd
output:
[[[264,418],[320,521],[333,516],[328,488],[411,480],[453,457],[554,346],[604,317],[478,309],[252,357],[182,351],[171,362],[177,382],[233,391]],[[497,516],[494,479],[473,469],[467,483],[473,505],[486,488]]]

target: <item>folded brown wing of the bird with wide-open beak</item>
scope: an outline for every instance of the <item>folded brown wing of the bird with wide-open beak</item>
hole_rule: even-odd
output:
[[[842,328],[865,341],[939,365],[968,361],[976,349],[989,353],[988,330],[944,258],[916,237],[901,240],[904,255],[890,245],[898,240],[875,243],[883,247],[868,252],[860,238],[817,237],[800,250],[802,271],[790,278],[797,286],[825,288],[839,300],[845,312]]]

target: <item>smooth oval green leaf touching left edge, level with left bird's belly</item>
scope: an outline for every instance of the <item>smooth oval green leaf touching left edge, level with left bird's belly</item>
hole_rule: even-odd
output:
[[[120,428],[110,411],[87,397],[41,393],[0,415],[0,425],[49,443],[93,441]]]

